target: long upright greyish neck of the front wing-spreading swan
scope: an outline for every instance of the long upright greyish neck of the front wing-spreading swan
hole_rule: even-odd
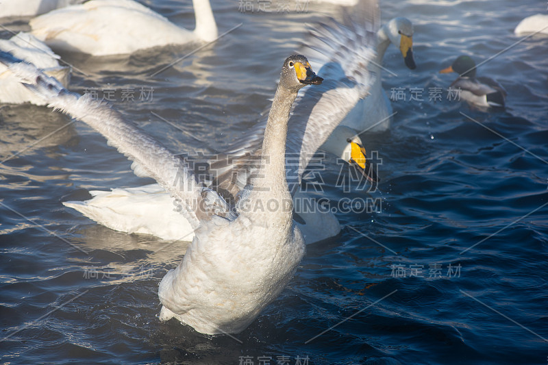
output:
[[[287,123],[291,105],[297,97],[297,90],[288,90],[279,84],[262,142],[261,172],[253,184],[253,190],[265,191],[270,197],[286,197],[289,194],[286,181],[286,139]]]

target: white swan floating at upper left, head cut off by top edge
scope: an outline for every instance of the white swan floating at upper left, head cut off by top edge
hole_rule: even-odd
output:
[[[133,0],[92,0],[38,16],[30,25],[32,34],[52,49],[90,55],[215,40],[217,27],[209,0],[192,3],[196,15],[192,32]]]

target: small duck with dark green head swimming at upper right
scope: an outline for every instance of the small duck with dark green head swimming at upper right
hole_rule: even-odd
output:
[[[504,108],[506,90],[489,77],[476,77],[474,60],[467,55],[460,55],[451,66],[440,73],[458,73],[459,77],[451,84],[451,88],[460,90],[463,99],[474,108]]]

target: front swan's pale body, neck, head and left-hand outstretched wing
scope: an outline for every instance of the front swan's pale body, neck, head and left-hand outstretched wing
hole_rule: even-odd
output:
[[[240,191],[234,206],[203,186],[186,160],[108,105],[62,88],[9,53],[1,53],[0,62],[10,64],[10,70],[51,106],[103,134],[134,161],[138,173],[153,177],[184,203],[184,216],[196,235],[179,266],[160,282],[161,320],[175,317],[202,333],[238,333],[284,289],[305,252],[301,232],[292,220],[286,181],[287,123],[299,89],[322,81],[304,56],[293,55],[284,62],[264,132],[258,175],[251,179],[251,188]],[[257,209],[258,205],[269,209]]]

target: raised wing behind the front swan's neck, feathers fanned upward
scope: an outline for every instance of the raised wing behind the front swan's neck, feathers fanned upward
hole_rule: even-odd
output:
[[[299,53],[306,55],[324,81],[319,86],[303,90],[293,104],[286,147],[286,174],[291,192],[299,186],[316,150],[356,103],[368,95],[375,81],[375,75],[369,72],[369,64],[375,59],[379,18],[377,0],[364,0],[345,10],[342,23],[331,18],[310,29],[306,46],[301,47]],[[238,140],[237,147],[229,151],[232,160],[260,155],[265,125],[266,117],[247,136]],[[297,160],[297,168],[288,166]],[[230,168],[222,162],[214,164]],[[241,168],[241,165],[234,164],[234,167]]]

